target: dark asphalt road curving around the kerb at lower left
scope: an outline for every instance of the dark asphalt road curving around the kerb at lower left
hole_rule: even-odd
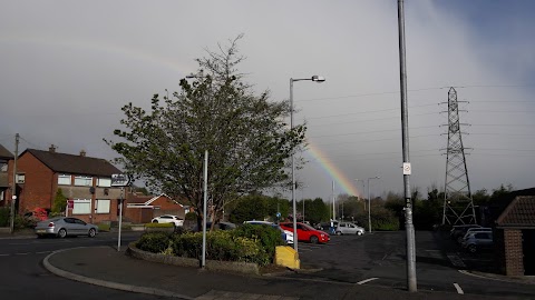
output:
[[[123,244],[137,239],[139,233],[123,234]],[[0,298],[1,299],[134,299],[154,300],[162,297],[124,292],[71,281],[51,274],[42,267],[42,259],[55,250],[117,246],[117,233],[101,233],[96,238],[67,239],[2,238],[0,239]]]

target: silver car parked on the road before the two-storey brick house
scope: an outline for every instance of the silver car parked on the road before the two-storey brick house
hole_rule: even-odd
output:
[[[98,227],[86,223],[77,218],[60,217],[38,222],[33,231],[38,238],[45,236],[56,236],[59,238],[67,236],[88,236],[89,238],[94,238],[98,233]]]

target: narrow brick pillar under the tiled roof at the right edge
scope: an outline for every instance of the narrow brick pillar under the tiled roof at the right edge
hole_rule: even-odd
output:
[[[524,276],[524,253],[522,248],[522,230],[505,229],[505,274]]]

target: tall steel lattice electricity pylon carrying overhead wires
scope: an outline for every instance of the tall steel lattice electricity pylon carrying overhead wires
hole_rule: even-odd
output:
[[[464,102],[464,101],[461,101]],[[448,91],[448,147],[446,150],[446,184],[444,192],[442,224],[476,223],[476,211],[470,192],[470,180],[466,167],[463,132],[459,122],[457,91]]]

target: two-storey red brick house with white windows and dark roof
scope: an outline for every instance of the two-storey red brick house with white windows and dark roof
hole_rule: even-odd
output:
[[[111,187],[111,174],[121,173],[104,159],[27,149],[17,160],[18,211],[51,209],[58,189],[72,201],[68,214],[87,222],[115,221],[121,189]]]

